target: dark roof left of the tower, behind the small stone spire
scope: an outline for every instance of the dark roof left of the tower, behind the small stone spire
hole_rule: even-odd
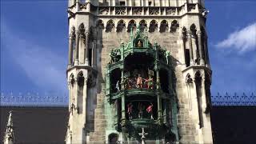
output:
[[[6,131],[10,110],[13,110],[16,143],[64,143],[68,121],[67,107],[2,106],[0,109],[0,143]]]

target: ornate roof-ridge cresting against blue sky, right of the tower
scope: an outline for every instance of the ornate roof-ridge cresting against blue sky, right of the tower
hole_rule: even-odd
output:
[[[213,106],[256,106],[256,95],[218,93],[216,96],[211,96],[211,102]]]

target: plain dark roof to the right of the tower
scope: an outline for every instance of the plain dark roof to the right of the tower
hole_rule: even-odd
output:
[[[214,106],[211,122],[216,144],[256,142],[256,106]]]

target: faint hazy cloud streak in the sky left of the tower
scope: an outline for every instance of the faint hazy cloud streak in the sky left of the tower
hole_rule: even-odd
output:
[[[37,42],[22,37],[2,22],[1,41],[10,52],[8,55],[40,89],[62,92],[67,90],[64,56],[55,54],[50,47],[38,46]]]

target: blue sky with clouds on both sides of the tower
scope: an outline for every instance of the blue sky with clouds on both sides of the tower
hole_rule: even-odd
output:
[[[67,2],[1,1],[1,91],[66,93]],[[206,0],[212,94],[256,93],[256,1]]]

